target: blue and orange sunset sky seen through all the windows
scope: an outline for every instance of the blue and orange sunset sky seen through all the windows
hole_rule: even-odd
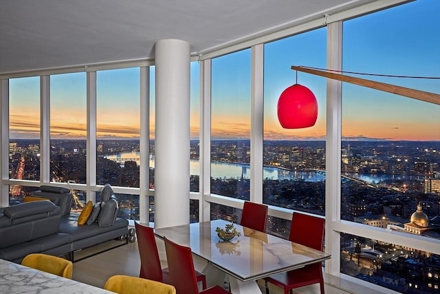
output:
[[[421,16],[421,17],[419,17]],[[440,1],[408,3],[344,22],[343,70],[440,77]],[[324,140],[326,79],[298,72],[298,83],[318,99],[318,121],[307,129],[283,129],[278,97],[296,81],[292,65],[326,67],[325,28],[265,45],[264,138]],[[191,65],[191,137],[199,134],[199,65]],[[348,74],[352,75],[353,74]],[[440,94],[439,79],[360,76]],[[154,68],[151,70],[154,97]],[[10,138],[39,138],[39,78],[10,79]],[[139,69],[97,74],[99,138],[137,138]],[[440,105],[344,83],[342,136],[353,140],[440,141]],[[51,76],[52,138],[82,138],[86,130],[86,74]],[[151,99],[154,133],[154,99]],[[250,138],[250,50],[212,61],[212,138]]]

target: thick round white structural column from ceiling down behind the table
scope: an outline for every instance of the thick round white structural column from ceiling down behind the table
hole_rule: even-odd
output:
[[[190,220],[190,44],[155,43],[155,228]]]

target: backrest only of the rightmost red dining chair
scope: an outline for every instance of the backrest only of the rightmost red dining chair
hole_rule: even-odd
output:
[[[313,249],[323,249],[325,219],[294,212],[289,240]]]

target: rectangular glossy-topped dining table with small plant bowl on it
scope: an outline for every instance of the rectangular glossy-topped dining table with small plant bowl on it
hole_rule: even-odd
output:
[[[155,229],[155,235],[190,247],[193,254],[207,262],[202,271],[206,284],[223,286],[227,276],[234,294],[261,293],[257,280],[331,258],[325,251],[236,223],[234,227],[239,235],[223,241],[216,229],[225,229],[226,224],[231,222],[211,220],[182,224]]]

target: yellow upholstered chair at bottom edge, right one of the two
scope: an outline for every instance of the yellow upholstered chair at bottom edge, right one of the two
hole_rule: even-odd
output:
[[[176,294],[174,286],[129,275],[109,277],[104,289],[119,294]]]

